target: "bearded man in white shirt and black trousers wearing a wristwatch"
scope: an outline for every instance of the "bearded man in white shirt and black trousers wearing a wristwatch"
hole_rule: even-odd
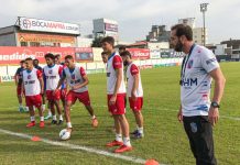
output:
[[[216,165],[212,125],[218,122],[225,77],[214,53],[194,43],[193,30],[176,24],[171,29],[171,45],[186,55],[181,72],[178,120],[184,122],[197,165]],[[215,80],[210,101],[211,80]]]

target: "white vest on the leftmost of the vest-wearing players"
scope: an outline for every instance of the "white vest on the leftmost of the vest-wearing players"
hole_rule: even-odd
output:
[[[25,89],[25,96],[36,96],[41,92],[40,80],[37,74],[41,74],[40,70],[33,68],[32,72],[23,70],[23,84]]]

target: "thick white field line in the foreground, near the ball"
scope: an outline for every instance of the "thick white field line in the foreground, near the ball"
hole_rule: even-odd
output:
[[[3,130],[3,129],[0,129],[0,132],[4,133],[4,134],[13,135],[13,136],[22,138],[22,139],[28,139],[28,140],[31,140],[33,138],[33,136],[28,135],[28,134],[17,133],[17,132]],[[146,160],[143,160],[143,158],[138,158],[138,157],[133,157],[133,156],[124,156],[124,155],[120,155],[120,154],[110,153],[107,151],[101,151],[101,150],[87,147],[87,146],[83,146],[83,145],[70,144],[70,143],[66,143],[66,142],[51,141],[51,140],[42,139],[42,138],[40,139],[40,141],[44,142],[46,144],[55,145],[55,146],[63,146],[65,148],[85,151],[88,153],[103,155],[103,156],[113,157],[113,158],[118,158],[118,160],[123,160],[123,161],[128,161],[128,162],[132,162],[132,163],[137,163],[137,164],[144,164],[146,162]],[[160,165],[164,165],[164,164],[160,164]]]

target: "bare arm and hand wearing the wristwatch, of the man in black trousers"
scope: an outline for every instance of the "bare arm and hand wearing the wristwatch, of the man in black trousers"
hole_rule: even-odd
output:
[[[209,75],[215,80],[212,101],[220,103],[221,98],[223,96],[223,90],[225,90],[225,82],[226,82],[225,76],[221,73],[220,67],[211,70],[209,73]],[[208,112],[208,118],[209,118],[209,121],[211,122],[211,124],[215,125],[218,121],[218,118],[219,118],[218,108],[210,107],[209,112]]]

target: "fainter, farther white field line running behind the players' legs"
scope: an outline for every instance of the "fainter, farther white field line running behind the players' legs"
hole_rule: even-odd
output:
[[[100,107],[100,108],[105,108],[107,109],[108,107],[107,106],[100,106],[100,105],[92,105],[94,107]],[[78,108],[78,107],[81,107],[81,106],[74,106],[74,108]],[[4,110],[4,109],[17,109],[18,110],[18,107],[0,107],[0,110]],[[177,112],[178,110],[174,110],[174,109],[167,109],[167,108],[143,108],[143,110],[161,110],[161,111],[172,111],[172,112]],[[230,117],[230,116],[221,116],[220,114],[220,119],[229,119],[229,120],[234,120],[234,121],[240,121],[240,118],[238,117]]]

